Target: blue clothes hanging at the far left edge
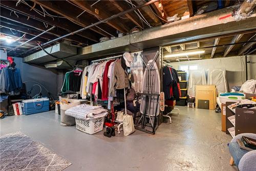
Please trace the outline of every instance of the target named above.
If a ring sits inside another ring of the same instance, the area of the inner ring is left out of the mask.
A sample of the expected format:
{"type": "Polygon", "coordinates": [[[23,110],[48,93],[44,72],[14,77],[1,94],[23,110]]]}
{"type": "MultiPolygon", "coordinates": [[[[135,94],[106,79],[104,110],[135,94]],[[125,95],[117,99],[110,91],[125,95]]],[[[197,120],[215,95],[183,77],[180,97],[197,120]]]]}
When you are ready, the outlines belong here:
{"type": "Polygon", "coordinates": [[[3,68],[0,73],[0,93],[18,95],[21,89],[20,70],[14,67],[3,68]]]}

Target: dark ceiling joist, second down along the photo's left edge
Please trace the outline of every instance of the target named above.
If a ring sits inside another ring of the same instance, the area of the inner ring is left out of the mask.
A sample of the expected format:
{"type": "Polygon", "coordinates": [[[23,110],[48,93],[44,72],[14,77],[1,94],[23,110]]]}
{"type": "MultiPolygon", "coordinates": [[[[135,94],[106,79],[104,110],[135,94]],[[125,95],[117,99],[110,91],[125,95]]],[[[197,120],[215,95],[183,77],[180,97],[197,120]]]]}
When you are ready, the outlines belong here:
{"type": "MultiPolygon", "coordinates": [[[[9,19],[13,22],[20,24],[20,25],[32,27],[32,28],[40,30],[40,31],[47,30],[45,25],[43,23],[39,22],[38,20],[35,20],[33,18],[27,19],[27,17],[22,14],[18,14],[19,17],[17,17],[15,14],[10,15],[10,12],[11,12],[10,10],[1,8],[1,17],[9,19]]],[[[49,25],[48,25],[48,27],[49,27],[49,25]]],[[[57,30],[53,29],[53,30],[47,32],[47,34],[52,34],[52,35],[55,35],[58,37],[58,36],[67,34],[67,31],[57,28],[57,30]]],[[[87,40],[78,35],[72,35],[69,38],[65,38],[65,39],[71,40],[71,41],[76,41],[78,43],[81,42],[83,44],[87,44],[87,40]]]]}

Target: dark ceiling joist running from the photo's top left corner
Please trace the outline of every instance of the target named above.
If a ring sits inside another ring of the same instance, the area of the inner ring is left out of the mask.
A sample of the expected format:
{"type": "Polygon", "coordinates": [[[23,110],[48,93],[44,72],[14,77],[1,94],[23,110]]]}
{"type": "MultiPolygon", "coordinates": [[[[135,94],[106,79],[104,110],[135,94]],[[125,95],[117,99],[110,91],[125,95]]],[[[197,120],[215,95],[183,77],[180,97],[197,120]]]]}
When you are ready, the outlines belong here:
{"type": "MultiPolygon", "coordinates": [[[[0,1],[0,4],[2,7],[7,8],[9,10],[16,11],[20,14],[29,16],[33,19],[39,20],[40,22],[44,22],[50,25],[55,25],[56,27],[59,27],[63,30],[66,30],[68,32],[73,32],[77,30],[77,27],[80,27],[78,25],[75,25],[74,23],[70,22],[68,19],[62,19],[62,18],[56,18],[53,20],[50,16],[41,16],[38,13],[36,13],[34,10],[30,10],[30,7],[19,3],[18,6],[16,6],[15,1],[0,1]]],[[[86,31],[86,32],[80,32],[77,33],[77,35],[87,38],[89,40],[92,40],[93,42],[99,42],[99,36],[96,36],[93,31],[86,31]]],[[[89,41],[90,42],[90,41],[89,41]]]]}

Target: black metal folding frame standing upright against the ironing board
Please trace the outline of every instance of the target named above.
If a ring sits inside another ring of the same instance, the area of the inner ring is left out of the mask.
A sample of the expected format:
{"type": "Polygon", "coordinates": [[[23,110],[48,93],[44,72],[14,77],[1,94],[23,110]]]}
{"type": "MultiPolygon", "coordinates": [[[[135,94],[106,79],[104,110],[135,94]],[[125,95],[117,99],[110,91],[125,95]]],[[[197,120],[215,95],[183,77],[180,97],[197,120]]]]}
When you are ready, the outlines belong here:
{"type": "MultiPolygon", "coordinates": [[[[155,54],[155,57],[153,58],[153,61],[151,63],[146,63],[144,61],[142,55],[140,55],[140,56],[141,56],[142,61],[146,67],[146,70],[144,72],[146,72],[147,82],[146,82],[146,91],[143,93],[138,93],[138,96],[140,96],[140,99],[141,100],[142,100],[142,98],[144,99],[145,106],[144,106],[142,115],[136,116],[137,113],[135,113],[135,116],[134,116],[135,129],[146,132],[146,133],[155,134],[156,126],[157,126],[156,123],[157,123],[157,119],[158,119],[157,111],[158,111],[159,107],[156,106],[155,114],[151,114],[150,109],[151,109],[152,99],[154,99],[154,101],[155,101],[155,98],[156,98],[157,99],[156,102],[158,103],[160,94],[156,94],[156,92],[152,92],[151,81],[153,81],[153,80],[151,80],[151,69],[154,65],[154,62],[159,57],[159,51],[157,51],[157,53],[155,54]],[[148,118],[148,121],[150,122],[149,123],[150,126],[148,126],[148,123],[146,123],[147,118],[148,118]],[[151,127],[152,131],[147,130],[146,127],[151,127]]],[[[136,108],[138,108],[138,101],[139,100],[137,100],[136,108]]],[[[159,105],[159,104],[157,104],[157,105],[159,105]]],[[[137,111],[137,109],[136,109],[136,111],[137,111]]]]}

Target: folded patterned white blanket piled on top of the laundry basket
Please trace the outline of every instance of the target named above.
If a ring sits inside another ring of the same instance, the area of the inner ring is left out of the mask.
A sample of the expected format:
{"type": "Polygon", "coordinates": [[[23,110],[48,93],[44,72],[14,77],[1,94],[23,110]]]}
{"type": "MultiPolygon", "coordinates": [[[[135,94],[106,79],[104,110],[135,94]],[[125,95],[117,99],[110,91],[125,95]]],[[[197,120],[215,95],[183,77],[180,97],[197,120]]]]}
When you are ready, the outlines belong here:
{"type": "Polygon", "coordinates": [[[91,105],[84,105],[80,104],[73,108],[68,109],[65,111],[66,115],[72,116],[77,119],[97,119],[103,116],[108,115],[108,110],[102,108],[102,106],[91,106],[91,105]],[[96,107],[96,108],[95,108],[96,107]]]}

